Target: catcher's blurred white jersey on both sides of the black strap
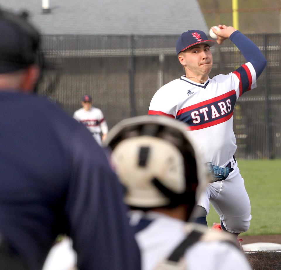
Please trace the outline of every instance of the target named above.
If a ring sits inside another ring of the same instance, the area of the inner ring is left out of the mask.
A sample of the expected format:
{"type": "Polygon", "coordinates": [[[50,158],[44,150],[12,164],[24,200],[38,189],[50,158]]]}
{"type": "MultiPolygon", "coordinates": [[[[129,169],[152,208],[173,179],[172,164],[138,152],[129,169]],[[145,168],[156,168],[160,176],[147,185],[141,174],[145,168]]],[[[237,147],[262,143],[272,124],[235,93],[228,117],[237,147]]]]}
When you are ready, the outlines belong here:
{"type": "MultiPolygon", "coordinates": [[[[141,224],[143,217],[140,211],[132,211],[130,214],[132,225],[139,221],[141,224]]],[[[186,233],[198,226],[196,224],[194,227],[192,223],[185,223],[153,211],[144,217],[151,220],[151,223],[135,236],[140,247],[143,270],[155,269],[186,238],[186,233]]],[[[185,269],[188,270],[251,269],[246,257],[237,247],[217,240],[198,241],[186,250],[184,260],[185,269]]]]}

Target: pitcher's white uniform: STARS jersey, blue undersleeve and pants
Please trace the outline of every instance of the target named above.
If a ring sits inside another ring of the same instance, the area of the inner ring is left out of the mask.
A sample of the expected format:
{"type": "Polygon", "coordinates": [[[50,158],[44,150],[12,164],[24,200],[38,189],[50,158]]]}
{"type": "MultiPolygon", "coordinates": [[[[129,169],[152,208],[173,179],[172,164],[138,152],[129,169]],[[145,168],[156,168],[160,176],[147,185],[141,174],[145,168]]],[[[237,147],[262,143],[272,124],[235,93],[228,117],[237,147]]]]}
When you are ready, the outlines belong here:
{"type": "Polygon", "coordinates": [[[185,76],[161,87],[151,100],[149,114],[169,116],[187,123],[189,135],[196,142],[205,162],[234,169],[226,180],[210,183],[197,205],[207,214],[210,202],[226,230],[241,233],[249,229],[251,205],[237,161],[233,157],[236,139],[233,110],[236,100],[256,87],[256,79],[266,66],[266,59],[249,38],[233,32],[229,39],[239,48],[246,64],[227,75],[217,75],[203,84],[185,76]]]}

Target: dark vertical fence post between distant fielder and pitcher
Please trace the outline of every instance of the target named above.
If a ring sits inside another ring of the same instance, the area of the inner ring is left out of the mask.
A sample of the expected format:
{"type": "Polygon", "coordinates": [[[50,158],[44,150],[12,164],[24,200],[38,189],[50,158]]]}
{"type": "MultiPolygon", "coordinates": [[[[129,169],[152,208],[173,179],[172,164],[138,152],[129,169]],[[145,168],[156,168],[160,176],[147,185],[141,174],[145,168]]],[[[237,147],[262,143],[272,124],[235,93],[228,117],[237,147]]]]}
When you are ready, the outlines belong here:
{"type": "Polygon", "coordinates": [[[136,104],[135,104],[135,37],[131,35],[131,57],[129,68],[129,80],[130,80],[130,104],[131,111],[130,116],[136,116],[136,104]]]}

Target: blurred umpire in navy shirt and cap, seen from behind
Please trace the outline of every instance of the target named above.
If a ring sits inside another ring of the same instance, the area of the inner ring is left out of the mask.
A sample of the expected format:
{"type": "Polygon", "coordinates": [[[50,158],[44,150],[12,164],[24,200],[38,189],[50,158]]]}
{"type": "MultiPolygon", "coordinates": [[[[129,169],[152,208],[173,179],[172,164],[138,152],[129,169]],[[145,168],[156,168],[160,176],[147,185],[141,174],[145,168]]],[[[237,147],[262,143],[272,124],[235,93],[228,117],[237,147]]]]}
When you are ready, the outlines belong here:
{"type": "Polygon", "coordinates": [[[42,269],[58,234],[82,269],[140,269],[122,189],[82,124],[33,92],[40,35],[0,11],[0,269],[42,269]]]}

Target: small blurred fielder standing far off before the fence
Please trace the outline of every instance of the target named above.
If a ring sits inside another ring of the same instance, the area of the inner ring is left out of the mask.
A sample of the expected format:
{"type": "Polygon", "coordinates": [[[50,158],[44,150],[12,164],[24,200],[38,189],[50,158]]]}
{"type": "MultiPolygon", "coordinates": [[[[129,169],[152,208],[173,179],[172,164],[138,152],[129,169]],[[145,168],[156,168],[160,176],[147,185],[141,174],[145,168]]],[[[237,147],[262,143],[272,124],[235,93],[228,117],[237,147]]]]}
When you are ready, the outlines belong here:
{"type": "Polygon", "coordinates": [[[74,112],[73,117],[83,123],[92,133],[99,145],[105,140],[108,133],[107,123],[102,111],[92,106],[92,97],[84,95],[81,102],[83,108],[74,112]],[[100,136],[102,133],[102,137],[100,136]]]}

